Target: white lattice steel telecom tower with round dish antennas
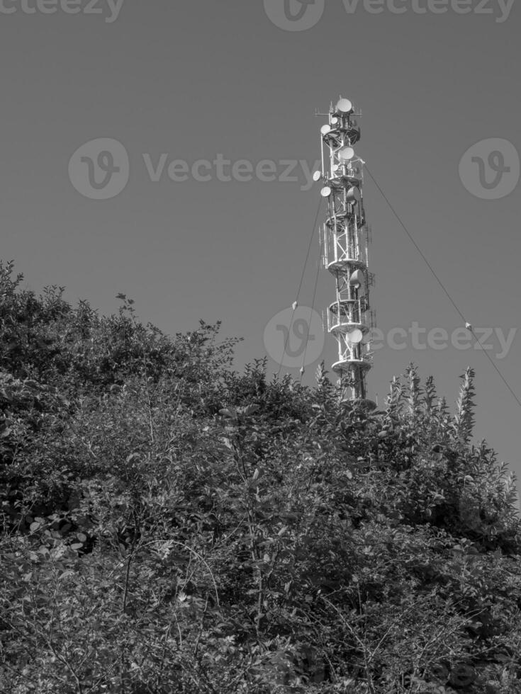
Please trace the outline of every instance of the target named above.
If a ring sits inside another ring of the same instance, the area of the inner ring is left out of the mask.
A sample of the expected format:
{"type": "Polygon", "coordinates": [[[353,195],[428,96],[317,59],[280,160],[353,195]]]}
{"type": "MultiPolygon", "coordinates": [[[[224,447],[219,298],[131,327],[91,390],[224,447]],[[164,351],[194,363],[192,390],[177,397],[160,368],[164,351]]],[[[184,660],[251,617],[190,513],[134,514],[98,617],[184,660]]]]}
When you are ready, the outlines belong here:
{"type": "Polygon", "coordinates": [[[348,99],[340,98],[328,116],[320,135],[322,171],[315,173],[315,179],[323,181],[320,194],[327,200],[327,217],[320,229],[323,264],[336,286],[336,299],[327,308],[327,329],[338,343],[332,370],[339,377],[342,400],[374,408],[366,389],[374,327],[369,305],[369,288],[374,285],[368,267],[371,229],[364,212],[364,161],[353,149],[360,139],[354,120],[359,114],[348,99]]]}

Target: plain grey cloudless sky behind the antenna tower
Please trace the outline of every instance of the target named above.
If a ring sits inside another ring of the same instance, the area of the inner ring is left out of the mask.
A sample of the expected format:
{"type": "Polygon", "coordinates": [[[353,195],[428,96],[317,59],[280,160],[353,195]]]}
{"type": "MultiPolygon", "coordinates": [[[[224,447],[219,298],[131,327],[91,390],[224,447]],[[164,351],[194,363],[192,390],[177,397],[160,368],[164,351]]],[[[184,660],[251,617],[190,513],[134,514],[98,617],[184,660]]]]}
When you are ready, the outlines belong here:
{"type": "MultiPolygon", "coordinates": [[[[310,174],[315,113],[344,96],[357,155],[521,399],[520,28],[509,0],[1,0],[0,256],[103,314],[123,292],[168,334],[221,320],[237,368],[273,356],[293,301],[334,298],[325,270],[314,292],[310,174]]],[[[367,174],[364,201],[369,394],[413,362],[454,406],[471,366],[476,438],[521,473],[520,404],[367,174]]],[[[311,385],[336,345],[309,335],[311,385]]]]}

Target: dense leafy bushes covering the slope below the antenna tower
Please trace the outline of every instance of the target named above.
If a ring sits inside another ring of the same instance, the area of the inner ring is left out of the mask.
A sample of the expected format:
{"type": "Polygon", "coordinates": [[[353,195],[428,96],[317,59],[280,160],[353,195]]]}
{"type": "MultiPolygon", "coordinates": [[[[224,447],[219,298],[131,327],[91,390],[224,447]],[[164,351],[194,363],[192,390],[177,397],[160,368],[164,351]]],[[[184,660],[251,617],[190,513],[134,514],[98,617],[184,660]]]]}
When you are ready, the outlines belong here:
{"type": "MultiPolygon", "coordinates": [[[[0,690],[521,692],[515,479],[413,366],[382,411],[0,266],[0,690]]],[[[452,394],[456,398],[457,392],[452,394]]]]}

